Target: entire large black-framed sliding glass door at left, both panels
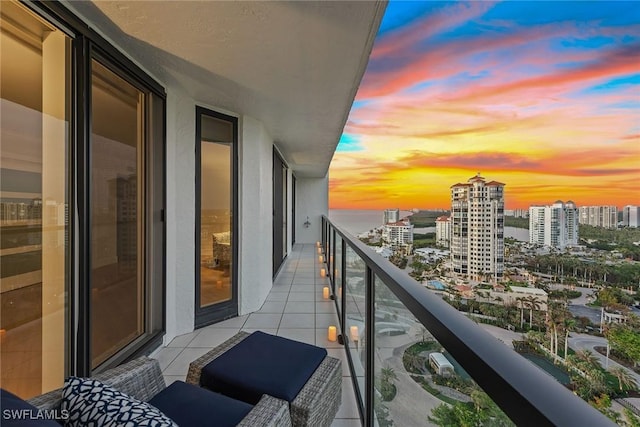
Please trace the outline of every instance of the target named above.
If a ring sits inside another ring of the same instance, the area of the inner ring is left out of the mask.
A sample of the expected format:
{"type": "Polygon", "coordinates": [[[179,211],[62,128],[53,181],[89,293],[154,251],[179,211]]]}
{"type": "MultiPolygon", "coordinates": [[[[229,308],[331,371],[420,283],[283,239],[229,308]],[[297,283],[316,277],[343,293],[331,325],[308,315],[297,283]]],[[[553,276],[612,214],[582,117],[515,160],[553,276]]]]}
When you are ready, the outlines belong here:
{"type": "Polygon", "coordinates": [[[165,92],[59,2],[0,3],[0,387],[30,398],[161,343],[165,92]]]}

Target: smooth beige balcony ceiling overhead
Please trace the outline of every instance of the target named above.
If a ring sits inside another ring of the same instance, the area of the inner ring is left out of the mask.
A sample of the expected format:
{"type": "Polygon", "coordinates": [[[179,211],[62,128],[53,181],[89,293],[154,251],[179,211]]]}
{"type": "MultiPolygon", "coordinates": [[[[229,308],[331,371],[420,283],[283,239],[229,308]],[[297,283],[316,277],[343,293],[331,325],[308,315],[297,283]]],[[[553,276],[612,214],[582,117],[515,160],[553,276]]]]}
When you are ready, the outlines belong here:
{"type": "MultiPolygon", "coordinates": [[[[298,177],[323,177],[385,1],[67,2],[161,81],[260,121],[298,177]]],[[[185,105],[185,108],[188,106],[185,105]]]]}

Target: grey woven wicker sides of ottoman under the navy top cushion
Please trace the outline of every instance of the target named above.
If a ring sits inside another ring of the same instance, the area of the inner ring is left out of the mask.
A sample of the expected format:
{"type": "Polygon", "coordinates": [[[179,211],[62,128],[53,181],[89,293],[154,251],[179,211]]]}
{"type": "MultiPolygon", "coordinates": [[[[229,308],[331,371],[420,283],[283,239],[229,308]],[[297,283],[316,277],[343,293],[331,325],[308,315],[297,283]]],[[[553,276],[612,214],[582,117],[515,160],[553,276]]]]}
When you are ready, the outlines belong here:
{"type": "MultiPolygon", "coordinates": [[[[200,385],[202,369],[212,360],[237,345],[250,334],[238,332],[218,347],[199,357],[189,365],[186,382],[200,385]]],[[[342,366],[339,359],[327,356],[311,378],[290,402],[294,427],[330,426],[342,401],[342,366]]]]}

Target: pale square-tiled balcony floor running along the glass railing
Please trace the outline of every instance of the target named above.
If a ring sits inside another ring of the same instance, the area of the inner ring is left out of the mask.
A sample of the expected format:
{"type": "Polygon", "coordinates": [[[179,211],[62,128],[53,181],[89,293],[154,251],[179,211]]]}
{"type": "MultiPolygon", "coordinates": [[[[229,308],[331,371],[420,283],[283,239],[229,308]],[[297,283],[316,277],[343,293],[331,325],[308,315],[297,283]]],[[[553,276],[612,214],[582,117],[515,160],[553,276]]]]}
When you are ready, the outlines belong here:
{"type": "Polygon", "coordinates": [[[261,330],[297,341],[325,347],[342,360],[342,405],[332,427],[360,426],[356,398],[344,347],[327,340],[329,325],[338,325],[334,302],[324,300],[321,266],[315,245],[295,245],[260,310],[180,335],[154,352],[167,384],[184,380],[189,363],[240,330],[261,330]]]}

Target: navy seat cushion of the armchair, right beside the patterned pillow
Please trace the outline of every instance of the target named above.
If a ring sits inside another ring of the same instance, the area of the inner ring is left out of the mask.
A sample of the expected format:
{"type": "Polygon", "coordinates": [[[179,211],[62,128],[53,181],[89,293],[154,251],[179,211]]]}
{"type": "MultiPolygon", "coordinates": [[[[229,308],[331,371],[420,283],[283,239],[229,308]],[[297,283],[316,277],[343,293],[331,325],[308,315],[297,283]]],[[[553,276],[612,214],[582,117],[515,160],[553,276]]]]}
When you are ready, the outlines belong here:
{"type": "Polygon", "coordinates": [[[176,381],[149,403],[179,426],[235,426],[253,409],[248,403],[176,381]]]}

